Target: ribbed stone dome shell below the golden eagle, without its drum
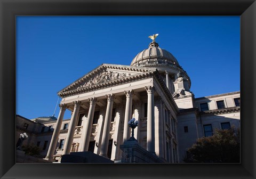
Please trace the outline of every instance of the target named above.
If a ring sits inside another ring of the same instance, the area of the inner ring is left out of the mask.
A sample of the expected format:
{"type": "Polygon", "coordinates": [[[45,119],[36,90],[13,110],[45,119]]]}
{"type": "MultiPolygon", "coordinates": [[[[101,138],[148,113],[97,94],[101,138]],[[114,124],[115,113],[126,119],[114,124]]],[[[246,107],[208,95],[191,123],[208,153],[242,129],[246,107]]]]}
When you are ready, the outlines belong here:
{"type": "Polygon", "coordinates": [[[171,64],[179,66],[177,59],[168,51],[159,47],[156,42],[151,42],[149,47],[138,53],[132,60],[131,66],[153,66],[157,64],[171,64]]]}

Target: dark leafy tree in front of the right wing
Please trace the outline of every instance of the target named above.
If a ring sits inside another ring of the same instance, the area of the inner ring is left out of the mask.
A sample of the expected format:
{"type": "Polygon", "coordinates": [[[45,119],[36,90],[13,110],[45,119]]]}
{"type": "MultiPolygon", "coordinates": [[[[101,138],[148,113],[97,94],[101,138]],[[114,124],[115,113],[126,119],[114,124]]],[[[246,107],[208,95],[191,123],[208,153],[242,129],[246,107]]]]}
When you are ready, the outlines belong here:
{"type": "Polygon", "coordinates": [[[214,135],[202,137],[188,149],[185,162],[194,163],[239,163],[240,132],[234,127],[215,129],[214,135]]]}

